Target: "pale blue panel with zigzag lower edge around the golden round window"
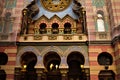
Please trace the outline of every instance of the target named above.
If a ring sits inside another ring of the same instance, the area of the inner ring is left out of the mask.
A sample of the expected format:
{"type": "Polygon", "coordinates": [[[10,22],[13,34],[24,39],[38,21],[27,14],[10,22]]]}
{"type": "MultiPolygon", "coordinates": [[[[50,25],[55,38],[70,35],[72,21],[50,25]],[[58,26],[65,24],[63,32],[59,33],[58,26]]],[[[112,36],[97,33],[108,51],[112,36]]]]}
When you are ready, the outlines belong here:
{"type": "Polygon", "coordinates": [[[37,5],[38,5],[38,7],[40,9],[40,12],[38,13],[38,15],[36,15],[34,17],[34,20],[37,20],[38,18],[40,18],[43,15],[45,15],[48,19],[50,19],[54,15],[57,15],[61,19],[63,17],[65,17],[66,15],[71,16],[73,19],[77,19],[78,18],[78,16],[75,15],[74,12],[73,12],[73,10],[72,10],[73,2],[72,2],[72,4],[67,9],[65,9],[64,11],[60,11],[60,12],[50,12],[50,11],[47,11],[46,9],[44,9],[42,7],[42,4],[40,3],[40,0],[37,1],[37,5]]]}

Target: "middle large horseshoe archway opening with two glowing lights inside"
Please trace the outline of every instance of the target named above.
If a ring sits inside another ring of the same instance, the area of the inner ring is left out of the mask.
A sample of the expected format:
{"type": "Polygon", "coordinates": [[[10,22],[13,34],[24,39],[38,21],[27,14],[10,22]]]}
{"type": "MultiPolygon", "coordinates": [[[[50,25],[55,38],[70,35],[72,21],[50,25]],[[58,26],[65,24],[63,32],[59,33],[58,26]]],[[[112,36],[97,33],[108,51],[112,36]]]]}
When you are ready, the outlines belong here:
{"type": "Polygon", "coordinates": [[[56,52],[50,51],[44,56],[43,62],[47,69],[46,80],[61,80],[61,73],[59,69],[61,62],[60,56],[56,52]]]}

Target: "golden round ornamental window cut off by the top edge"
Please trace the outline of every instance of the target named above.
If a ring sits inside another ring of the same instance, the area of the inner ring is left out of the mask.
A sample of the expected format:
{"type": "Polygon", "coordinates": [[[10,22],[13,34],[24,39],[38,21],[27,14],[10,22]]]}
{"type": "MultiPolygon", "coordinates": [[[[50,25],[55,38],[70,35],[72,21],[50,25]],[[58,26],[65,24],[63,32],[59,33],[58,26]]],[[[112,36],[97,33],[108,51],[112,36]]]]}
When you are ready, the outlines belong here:
{"type": "Polygon", "coordinates": [[[62,11],[66,9],[72,0],[41,0],[43,7],[49,11],[62,11]]]}

